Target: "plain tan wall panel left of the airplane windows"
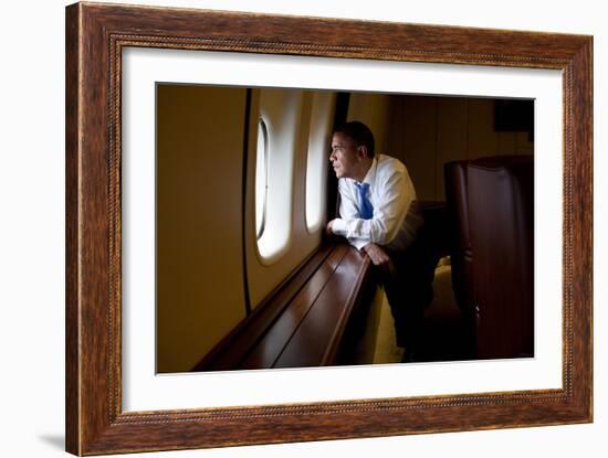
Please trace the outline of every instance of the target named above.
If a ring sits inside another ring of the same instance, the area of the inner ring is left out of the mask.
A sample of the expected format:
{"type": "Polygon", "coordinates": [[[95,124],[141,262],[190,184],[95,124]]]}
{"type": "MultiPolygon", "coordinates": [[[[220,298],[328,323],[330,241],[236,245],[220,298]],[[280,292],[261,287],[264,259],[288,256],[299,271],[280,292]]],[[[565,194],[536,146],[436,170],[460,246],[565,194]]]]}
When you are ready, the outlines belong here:
{"type": "Polygon", "coordinates": [[[158,86],[158,372],[191,370],[245,316],[245,95],[244,88],[158,86]]]}

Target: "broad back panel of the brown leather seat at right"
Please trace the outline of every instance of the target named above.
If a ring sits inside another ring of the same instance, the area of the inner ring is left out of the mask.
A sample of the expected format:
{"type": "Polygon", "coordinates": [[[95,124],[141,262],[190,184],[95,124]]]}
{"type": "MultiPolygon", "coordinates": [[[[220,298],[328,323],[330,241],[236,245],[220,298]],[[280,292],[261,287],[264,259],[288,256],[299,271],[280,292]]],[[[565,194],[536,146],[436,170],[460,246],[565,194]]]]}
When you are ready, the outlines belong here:
{"type": "Polygon", "coordinates": [[[534,161],[468,164],[478,356],[534,353],[534,161]]]}

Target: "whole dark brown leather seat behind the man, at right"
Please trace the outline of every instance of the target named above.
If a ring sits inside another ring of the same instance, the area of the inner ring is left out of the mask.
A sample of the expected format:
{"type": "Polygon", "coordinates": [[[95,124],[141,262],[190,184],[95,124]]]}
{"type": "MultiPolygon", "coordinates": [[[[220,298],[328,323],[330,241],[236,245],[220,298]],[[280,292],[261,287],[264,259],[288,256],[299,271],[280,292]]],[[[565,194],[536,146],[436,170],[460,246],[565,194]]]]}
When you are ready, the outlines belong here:
{"type": "Polygon", "coordinates": [[[534,161],[445,166],[452,281],[476,358],[534,354],[534,161]]]}

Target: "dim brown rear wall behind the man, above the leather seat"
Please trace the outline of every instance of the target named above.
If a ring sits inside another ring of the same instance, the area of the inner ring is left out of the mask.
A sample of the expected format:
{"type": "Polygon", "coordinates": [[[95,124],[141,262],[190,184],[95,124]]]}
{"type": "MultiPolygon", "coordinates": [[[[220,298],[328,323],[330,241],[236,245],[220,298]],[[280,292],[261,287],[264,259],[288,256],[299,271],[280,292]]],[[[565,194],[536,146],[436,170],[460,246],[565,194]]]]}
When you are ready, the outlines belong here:
{"type": "Polygon", "coordinates": [[[445,200],[449,161],[534,153],[527,132],[494,131],[489,98],[392,96],[388,125],[388,153],[406,164],[421,201],[445,200]]]}

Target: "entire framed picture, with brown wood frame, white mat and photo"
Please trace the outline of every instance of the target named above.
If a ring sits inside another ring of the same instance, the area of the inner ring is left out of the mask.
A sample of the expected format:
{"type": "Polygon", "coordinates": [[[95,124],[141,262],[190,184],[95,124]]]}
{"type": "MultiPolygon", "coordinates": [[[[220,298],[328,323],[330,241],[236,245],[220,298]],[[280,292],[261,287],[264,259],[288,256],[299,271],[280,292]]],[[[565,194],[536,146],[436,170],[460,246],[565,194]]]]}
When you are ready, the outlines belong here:
{"type": "Polygon", "coordinates": [[[591,422],[591,75],[583,35],[67,7],[67,451],[591,422]],[[407,215],[340,231],[387,161],[407,215]]]}

